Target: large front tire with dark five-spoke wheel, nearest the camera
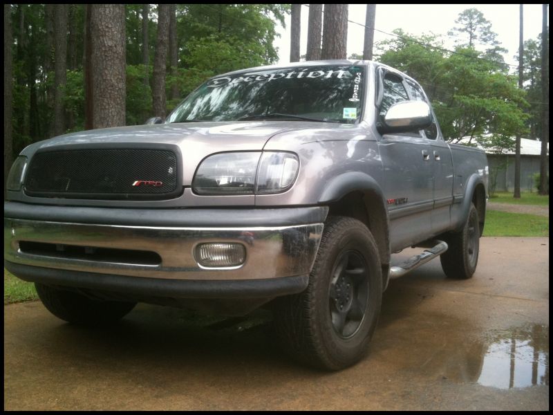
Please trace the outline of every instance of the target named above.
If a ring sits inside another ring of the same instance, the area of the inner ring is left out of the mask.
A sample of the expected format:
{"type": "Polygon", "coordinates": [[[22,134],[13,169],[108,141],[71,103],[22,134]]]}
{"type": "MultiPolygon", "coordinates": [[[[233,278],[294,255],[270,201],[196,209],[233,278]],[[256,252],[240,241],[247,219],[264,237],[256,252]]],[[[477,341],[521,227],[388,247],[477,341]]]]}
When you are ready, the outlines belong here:
{"type": "Polygon", "coordinates": [[[275,323],[285,351],[312,367],[338,370],[366,353],[382,304],[375,239],[356,219],[325,224],[308,288],[277,301],[275,323]]]}

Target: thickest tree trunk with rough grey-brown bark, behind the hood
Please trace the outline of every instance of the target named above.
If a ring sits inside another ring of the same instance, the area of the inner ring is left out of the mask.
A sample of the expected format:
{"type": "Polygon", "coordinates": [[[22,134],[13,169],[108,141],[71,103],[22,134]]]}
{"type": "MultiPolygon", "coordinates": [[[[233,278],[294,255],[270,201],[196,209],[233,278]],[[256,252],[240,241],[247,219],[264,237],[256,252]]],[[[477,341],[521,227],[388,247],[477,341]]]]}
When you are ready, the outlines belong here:
{"type": "Polygon", "coordinates": [[[93,128],[125,124],[125,8],[93,4],[92,75],[93,128]]]}

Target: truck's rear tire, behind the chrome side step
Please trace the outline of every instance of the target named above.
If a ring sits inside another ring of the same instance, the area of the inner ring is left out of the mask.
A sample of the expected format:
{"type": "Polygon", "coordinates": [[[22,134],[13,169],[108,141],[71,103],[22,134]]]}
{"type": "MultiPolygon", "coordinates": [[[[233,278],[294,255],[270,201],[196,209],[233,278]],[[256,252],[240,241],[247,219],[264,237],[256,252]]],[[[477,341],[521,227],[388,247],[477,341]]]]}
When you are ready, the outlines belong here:
{"type": "Polygon", "coordinates": [[[469,217],[460,232],[449,232],[444,235],[447,251],[440,256],[445,275],[455,279],[469,279],[478,264],[480,247],[480,225],[478,211],[471,204],[469,217]]]}

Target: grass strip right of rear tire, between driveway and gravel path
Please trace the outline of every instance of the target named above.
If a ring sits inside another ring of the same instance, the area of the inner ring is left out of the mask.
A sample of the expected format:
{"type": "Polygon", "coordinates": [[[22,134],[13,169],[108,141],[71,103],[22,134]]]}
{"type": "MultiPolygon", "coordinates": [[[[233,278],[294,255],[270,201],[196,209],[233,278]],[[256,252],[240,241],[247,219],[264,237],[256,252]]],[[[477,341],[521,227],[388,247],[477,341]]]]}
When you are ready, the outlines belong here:
{"type": "Polygon", "coordinates": [[[486,211],[485,237],[548,237],[549,218],[535,214],[486,211]]]}

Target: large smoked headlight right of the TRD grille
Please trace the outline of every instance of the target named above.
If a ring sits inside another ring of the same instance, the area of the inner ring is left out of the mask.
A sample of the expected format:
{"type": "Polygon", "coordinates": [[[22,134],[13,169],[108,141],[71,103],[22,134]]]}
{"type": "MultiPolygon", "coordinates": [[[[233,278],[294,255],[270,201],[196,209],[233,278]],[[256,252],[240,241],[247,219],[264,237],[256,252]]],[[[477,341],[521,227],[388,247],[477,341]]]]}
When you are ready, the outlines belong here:
{"type": "Polygon", "coordinates": [[[269,194],[288,190],[299,160],[284,151],[221,153],[207,157],[192,181],[197,194],[269,194]]]}

